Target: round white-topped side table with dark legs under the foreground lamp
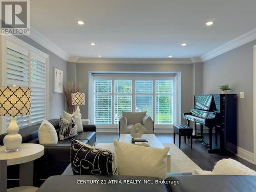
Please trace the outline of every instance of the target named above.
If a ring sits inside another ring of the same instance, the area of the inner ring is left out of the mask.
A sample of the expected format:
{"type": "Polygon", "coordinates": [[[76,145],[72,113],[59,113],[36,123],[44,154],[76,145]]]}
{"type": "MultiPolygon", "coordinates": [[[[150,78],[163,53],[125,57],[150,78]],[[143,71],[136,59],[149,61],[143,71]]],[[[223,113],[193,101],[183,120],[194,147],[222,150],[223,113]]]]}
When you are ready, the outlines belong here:
{"type": "MultiPolygon", "coordinates": [[[[0,147],[0,186],[1,191],[7,191],[7,166],[19,165],[19,186],[33,186],[33,161],[45,153],[45,147],[40,144],[22,143],[20,151],[6,153],[5,147],[0,147]]],[[[15,187],[17,188],[17,187],[15,187]]]]}

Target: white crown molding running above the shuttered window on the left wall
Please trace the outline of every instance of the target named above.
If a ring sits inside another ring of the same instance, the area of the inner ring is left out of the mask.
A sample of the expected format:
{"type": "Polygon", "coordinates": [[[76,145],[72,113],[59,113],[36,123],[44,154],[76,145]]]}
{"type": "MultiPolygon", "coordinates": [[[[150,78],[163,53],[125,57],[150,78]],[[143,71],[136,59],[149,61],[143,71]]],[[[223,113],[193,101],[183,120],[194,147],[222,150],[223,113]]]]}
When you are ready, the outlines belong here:
{"type": "Polygon", "coordinates": [[[70,55],[68,53],[66,53],[65,51],[60,49],[58,46],[53,44],[53,42],[50,39],[46,38],[44,35],[42,35],[39,31],[34,29],[32,26],[30,26],[30,35],[28,37],[30,37],[32,40],[36,41],[38,44],[45,47],[46,49],[50,50],[60,58],[66,61],[68,61],[68,59],[70,58],[70,55]]]}

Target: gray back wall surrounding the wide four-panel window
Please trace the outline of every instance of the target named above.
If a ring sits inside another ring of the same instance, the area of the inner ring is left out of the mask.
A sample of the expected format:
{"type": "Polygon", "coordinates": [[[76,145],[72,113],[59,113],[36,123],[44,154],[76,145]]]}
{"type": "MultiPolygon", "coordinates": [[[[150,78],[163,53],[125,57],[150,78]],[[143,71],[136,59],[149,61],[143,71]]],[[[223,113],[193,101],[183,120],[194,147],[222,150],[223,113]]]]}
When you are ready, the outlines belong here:
{"type": "MultiPolygon", "coordinates": [[[[68,64],[69,65],[69,64],[68,64]]],[[[80,106],[82,116],[88,118],[88,90],[90,71],[181,72],[181,115],[193,108],[193,64],[84,64],[77,63],[77,81],[85,83],[86,105],[80,106]]],[[[183,118],[182,122],[185,122],[183,118]]]]}

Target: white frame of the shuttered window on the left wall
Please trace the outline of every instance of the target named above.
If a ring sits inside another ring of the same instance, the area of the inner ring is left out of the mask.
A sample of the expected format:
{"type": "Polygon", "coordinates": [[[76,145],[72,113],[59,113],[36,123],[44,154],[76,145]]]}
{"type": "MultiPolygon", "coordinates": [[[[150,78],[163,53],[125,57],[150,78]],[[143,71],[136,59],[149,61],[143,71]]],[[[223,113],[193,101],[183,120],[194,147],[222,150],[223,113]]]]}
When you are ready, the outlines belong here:
{"type": "MultiPolygon", "coordinates": [[[[6,54],[6,49],[7,49],[7,41],[12,42],[13,44],[22,47],[26,50],[29,51],[29,63],[31,64],[31,55],[32,52],[36,55],[39,55],[40,57],[43,57],[46,59],[46,119],[49,119],[49,55],[36,49],[35,47],[29,45],[27,42],[13,36],[1,36],[1,86],[12,86],[12,84],[7,83],[7,54],[6,54]]],[[[29,66],[31,68],[31,66],[29,66]]],[[[31,75],[31,74],[30,74],[31,75]]],[[[31,86],[31,83],[30,83],[31,86]]],[[[7,123],[6,120],[7,117],[1,117],[0,118],[0,124],[2,125],[2,133],[6,133],[7,131],[7,123]]],[[[34,123],[36,124],[36,123],[34,123]]],[[[29,117],[29,125],[31,125],[31,117],[29,117]]],[[[21,127],[22,128],[22,127],[21,127]]]]}

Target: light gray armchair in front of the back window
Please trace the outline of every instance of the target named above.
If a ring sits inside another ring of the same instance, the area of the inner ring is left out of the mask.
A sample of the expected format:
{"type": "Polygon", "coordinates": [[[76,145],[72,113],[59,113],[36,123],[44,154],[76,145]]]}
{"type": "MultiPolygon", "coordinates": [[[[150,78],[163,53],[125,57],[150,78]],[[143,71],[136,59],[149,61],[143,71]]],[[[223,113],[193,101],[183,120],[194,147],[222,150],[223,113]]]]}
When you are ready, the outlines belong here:
{"type": "Polygon", "coordinates": [[[122,116],[119,118],[118,135],[130,134],[131,128],[134,124],[140,123],[143,126],[144,134],[154,134],[155,126],[154,121],[145,112],[122,112],[122,116]]]}

